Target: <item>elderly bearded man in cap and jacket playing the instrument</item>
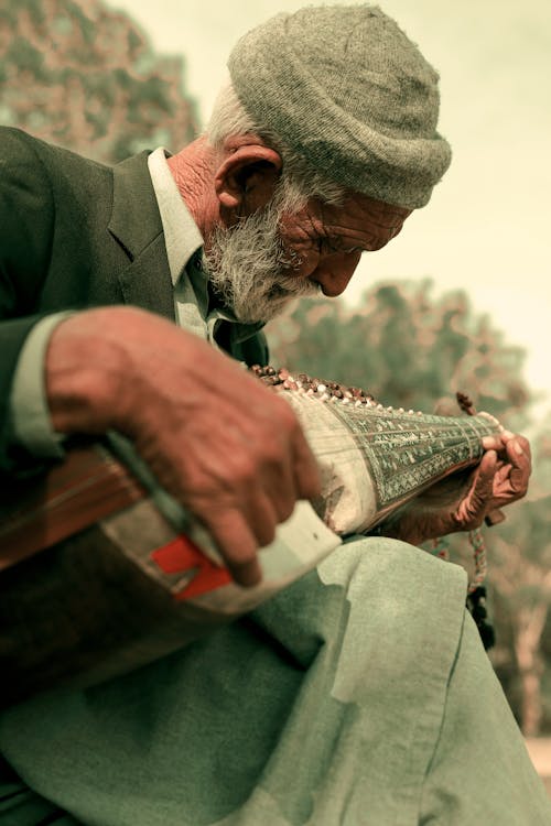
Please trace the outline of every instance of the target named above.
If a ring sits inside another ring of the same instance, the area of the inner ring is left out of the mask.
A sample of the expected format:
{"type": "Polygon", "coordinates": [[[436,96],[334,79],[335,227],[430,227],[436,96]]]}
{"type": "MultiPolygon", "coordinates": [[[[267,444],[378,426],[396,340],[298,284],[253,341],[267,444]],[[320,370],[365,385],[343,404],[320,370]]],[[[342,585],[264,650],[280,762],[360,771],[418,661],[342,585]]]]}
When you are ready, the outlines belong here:
{"type": "MultiPolygon", "coordinates": [[[[226,354],[266,362],[266,320],[342,293],[450,149],[436,74],[377,8],[277,15],[229,70],[207,135],[169,159],[111,170],[3,130],[0,446],[11,478],[67,434],[126,434],[247,586],[320,481],[288,405],[226,354]]],[[[486,446],[468,490],[388,533],[471,528],[521,497],[526,439],[486,446]]],[[[549,823],[464,604],[458,568],[349,542],[171,656],[4,711],[0,823],[549,823]]]]}

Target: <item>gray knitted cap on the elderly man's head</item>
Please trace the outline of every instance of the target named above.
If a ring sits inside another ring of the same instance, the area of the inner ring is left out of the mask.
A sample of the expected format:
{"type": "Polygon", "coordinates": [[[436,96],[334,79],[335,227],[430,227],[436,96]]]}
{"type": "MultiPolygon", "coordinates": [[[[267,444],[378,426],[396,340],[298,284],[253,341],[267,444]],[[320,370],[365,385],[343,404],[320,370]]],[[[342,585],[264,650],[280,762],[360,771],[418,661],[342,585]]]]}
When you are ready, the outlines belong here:
{"type": "Polygon", "coordinates": [[[277,14],[238,41],[228,67],[255,122],[349,189],[422,207],[450,165],[439,76],[378,7],[277,14]]]}

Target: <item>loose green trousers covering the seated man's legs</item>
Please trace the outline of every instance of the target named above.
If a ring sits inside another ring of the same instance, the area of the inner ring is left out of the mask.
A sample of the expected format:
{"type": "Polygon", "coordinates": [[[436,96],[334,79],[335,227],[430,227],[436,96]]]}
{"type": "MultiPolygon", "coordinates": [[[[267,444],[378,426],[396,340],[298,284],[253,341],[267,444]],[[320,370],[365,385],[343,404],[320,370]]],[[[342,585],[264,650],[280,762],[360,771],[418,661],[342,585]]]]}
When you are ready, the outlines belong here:
{"type": "Polygon", "coordinates": [[[549,826],[465,590],[354,541],[171,656],[4,711],[1,826],[549,826]]]}

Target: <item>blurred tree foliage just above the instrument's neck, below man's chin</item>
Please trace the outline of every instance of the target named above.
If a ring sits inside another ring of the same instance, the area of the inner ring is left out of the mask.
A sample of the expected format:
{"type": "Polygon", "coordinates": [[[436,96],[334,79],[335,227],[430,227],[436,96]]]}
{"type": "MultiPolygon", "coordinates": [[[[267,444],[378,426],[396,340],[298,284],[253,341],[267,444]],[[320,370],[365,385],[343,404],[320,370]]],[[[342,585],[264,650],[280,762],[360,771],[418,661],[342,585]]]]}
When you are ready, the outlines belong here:
{"type": "Polygon", "coordinates": [[[461,390],[516,428],[530,398],[522,349],[473,313],[464,292],[432,298],[431,289],[428,280],[379,284],[354,309],[302,302],[268,327],[272,361],[424,412],[461,390]]]}

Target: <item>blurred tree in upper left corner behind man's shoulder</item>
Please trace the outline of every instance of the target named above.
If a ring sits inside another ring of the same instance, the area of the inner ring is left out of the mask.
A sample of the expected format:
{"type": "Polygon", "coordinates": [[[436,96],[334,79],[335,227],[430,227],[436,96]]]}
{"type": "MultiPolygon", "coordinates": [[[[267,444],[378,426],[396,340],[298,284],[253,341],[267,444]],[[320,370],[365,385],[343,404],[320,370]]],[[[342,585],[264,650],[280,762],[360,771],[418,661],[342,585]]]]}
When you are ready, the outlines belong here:
{"type": "Polygon", "coordinates": [[[101,0],[2,0],[0,123],[104,162],[196,131],[183,58],[101,0]]]}

